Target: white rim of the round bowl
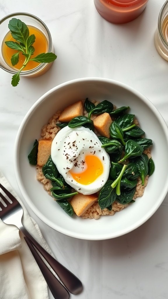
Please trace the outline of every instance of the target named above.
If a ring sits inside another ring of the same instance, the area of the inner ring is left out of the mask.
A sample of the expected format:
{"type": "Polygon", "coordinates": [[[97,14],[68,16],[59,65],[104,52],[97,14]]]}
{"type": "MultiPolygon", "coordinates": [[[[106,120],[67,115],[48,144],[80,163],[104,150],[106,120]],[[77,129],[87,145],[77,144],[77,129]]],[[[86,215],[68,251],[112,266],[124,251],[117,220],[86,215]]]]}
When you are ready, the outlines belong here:
{"type": "Polygon", "coordinates": [[[168,192],[168,179],[167,179],[167,184],[165,184],[164,190],[162,190],[162,196],[159,197],[159,200],[157,201],[157,203],[152,207],[151,210],[149,210],[148,213],[146,213],[143,216],[143,218],[141,218],[135,224],[130,225],[129,227],[120,230],[119,232],[116,232],[116,233],[113,233],[113,234],[105,233],[105,234],[101,234],[99,236],[94,236],[94,235],[88,236],[87,234],[83,234],[83,233],[71,232],[67,229],[64,229],[64,228],[54,224],[52,221],[50,221],[50,219],[46,218],[36,208],[36,206],[33,204],[33,202],[29,199],[29,196],[26,193],[26,190],[25,190],[24,186],[22,185],[21,179],[20,179],[21,175],[20,175],[20,170],[19,170],[19,146],[20,146],[20,143],[21,143],[24,127],[27,124],[34,108],[37,108],[45,100],[46,97],[48,97],[49,95],[54,93],[56,90],[62,89],[64,86],[68,86],[68,85],[71,85],[71,84],[74,84],[74,83],[86,82],[86,81],[89,81],[89,83],[94,82],[94,81],[112,83],[112,84],[120,86],[124,89],[127,89],[130,92],[132,92],[133,94],[135,94],[136,96],[140,97],[141,100],[149,106],[149,108],[152,110],[152,112],[159,119],[159,121],[162,125],[162,128],[164,129],[164,133],[165,133],[167,144],[168,144],[168,127],[167,127],[167,124],[166,124],[164,118],[162,117],[162,115],[158,111],[158,109],[154,106],[154,104],[147,97],[145,97],[142,93],[140,93],[138,90],[134,89],[133,87],[131,87],[131,86],[125,84],[125,83],[122,83],[120,81],[117,81],[117,80],[103,78],[103,77],[82,77],[82,78],[78,78],[78,79],[68,80],[68,81],[63,82],[63,83],[53,87],[52,89],[46,91],[45,94],[43,94],[41,97],[39,97],[39,99],[36,100],[36,102],[30,107],[30,109],[26,113],[25,117],[23,118],[23,120],[22,120],[22,122],[19,126],[19,129],[18,129],[18,132],[17,132],[17,135],[16,135],[16,139],[15,139],[15,144],[14,144],[14,172],[15,172],[15,176],[16,176],[16,182],[18,184],[19,190],[20,190],[25,202],[27,203],[29,208],[33,211],[33,213],[42,222],[44,222],[46,225],[48,225],[49,227],[51,227],[55,231],[57,231],[59,233],[62,233],[62,234],[66,235],[66,236],[69,236],[69,237],[74,237],[74,238],[77,238],[77,239],[84,239],[84,240],[105,240],[105,239],[112,239],[112,238],[116,238],[116,237],[120,237],[122,235],[125,235],[125,234],[135,230],[136,228],[140,227],[142,224],[144,224],[158,210],[161,203],[164,201],[164,199],[167,195],[167,192],[168,192]]]}

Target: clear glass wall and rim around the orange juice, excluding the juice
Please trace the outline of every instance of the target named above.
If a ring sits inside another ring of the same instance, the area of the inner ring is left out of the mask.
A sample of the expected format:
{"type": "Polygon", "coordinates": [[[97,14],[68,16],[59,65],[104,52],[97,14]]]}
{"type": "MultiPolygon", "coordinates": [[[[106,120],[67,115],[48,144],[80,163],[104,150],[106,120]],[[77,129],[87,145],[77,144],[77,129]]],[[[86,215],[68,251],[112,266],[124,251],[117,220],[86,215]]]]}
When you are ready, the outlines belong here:
{"type": "MultiPolygon", "coordinates": [[[[0,20],[0,45],[2,45],[2,42],[4,40],[4,37],[6,34],[9,32],[8,24],[10,19],[16,18],[20,19],[22,22],[24,22],[26,25],[32,26],[40,30],[44,36],[45,36],[45,41],[47,43],[47,51],[46,52],[54,52],[54,46],[52,43],[51,39],[51,34],[50,31],[48,30],[47,26],[45,25],[42,20],[37,18],[34,15],[31,15],[29,13],[12,13],[8,16],[5,16],[3,19],[0,20]]],[[[21,71],[20,76],[25,76],[25,77],[38,77],[44,74],[46,71],[51,68],[53,62],[50,63],[40,63],[38,66],[35,68],[32,68],[27,71],[21,71]]],[[[0,50],[0,67],[4,70],[7,71],[11,74],[16,74],[18,70],[15,67],[12,67],[7,64],[7,62],[4,60],[4,57],[2,55],[2,46],[0,50]]]]}

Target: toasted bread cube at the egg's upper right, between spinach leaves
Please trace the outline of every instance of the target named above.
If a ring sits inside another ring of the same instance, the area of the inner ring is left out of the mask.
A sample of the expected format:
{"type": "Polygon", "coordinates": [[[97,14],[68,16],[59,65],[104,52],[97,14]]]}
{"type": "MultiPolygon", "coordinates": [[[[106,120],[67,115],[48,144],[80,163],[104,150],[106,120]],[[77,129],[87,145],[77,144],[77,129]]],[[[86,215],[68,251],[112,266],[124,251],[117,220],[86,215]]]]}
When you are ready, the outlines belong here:
{"type": "Polygon", "coordinates": [[[94,127],[97,130],[97,132],[107,138],[110,138],[110,132],[109,128],[112,123],[112,119],[109,115],[109,113],[103,113],[101,115],[98,115],[94,121],[94,127]]]}

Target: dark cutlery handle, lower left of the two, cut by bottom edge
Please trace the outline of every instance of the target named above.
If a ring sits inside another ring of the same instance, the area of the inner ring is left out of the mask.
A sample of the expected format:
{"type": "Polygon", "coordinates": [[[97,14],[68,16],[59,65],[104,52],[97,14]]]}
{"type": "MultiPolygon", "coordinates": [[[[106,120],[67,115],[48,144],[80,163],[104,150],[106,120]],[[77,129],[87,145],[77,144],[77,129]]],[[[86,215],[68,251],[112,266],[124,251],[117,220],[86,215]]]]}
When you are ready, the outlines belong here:
{"type": "Polygon", "coordinates": [[[36,249],[31,244],[30,240],[27,237],[24,237],[26,243],[28,244],[33,257],[38,264],[51,293],[53,294],[55,299],[69,299],[69,293],[65,289],[65,287],[59,282],[59,280],[51,273],[48,267],[45,265],[39,254],[37,253],[36,249]]]}

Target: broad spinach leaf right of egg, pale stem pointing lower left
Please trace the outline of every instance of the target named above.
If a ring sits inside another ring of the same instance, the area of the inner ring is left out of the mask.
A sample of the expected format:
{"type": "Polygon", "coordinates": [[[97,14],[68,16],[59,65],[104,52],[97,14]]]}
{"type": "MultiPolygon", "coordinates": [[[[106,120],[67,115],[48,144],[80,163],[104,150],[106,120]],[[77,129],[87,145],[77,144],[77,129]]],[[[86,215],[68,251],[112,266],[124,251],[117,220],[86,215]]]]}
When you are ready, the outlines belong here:
{"type": "Polygon", "coordinates": [[[134,140],[128,140],[125,146],[125,155],[120,161],[118,161],[118,163],[121,163],[130,157],[140,156],[142,153],[143,147],[141,147],[134,140]]]}

